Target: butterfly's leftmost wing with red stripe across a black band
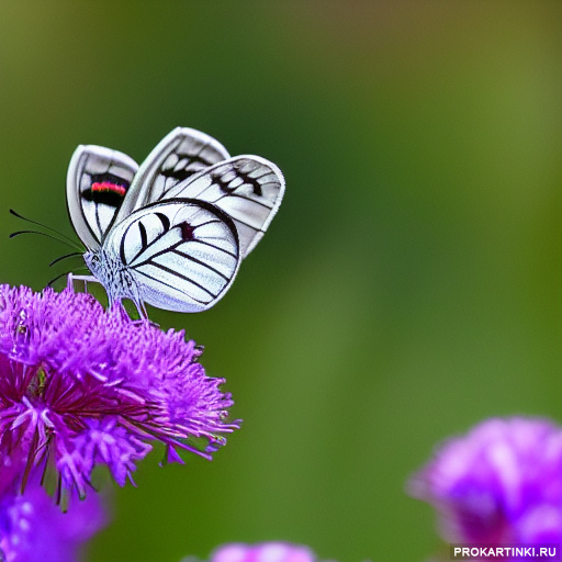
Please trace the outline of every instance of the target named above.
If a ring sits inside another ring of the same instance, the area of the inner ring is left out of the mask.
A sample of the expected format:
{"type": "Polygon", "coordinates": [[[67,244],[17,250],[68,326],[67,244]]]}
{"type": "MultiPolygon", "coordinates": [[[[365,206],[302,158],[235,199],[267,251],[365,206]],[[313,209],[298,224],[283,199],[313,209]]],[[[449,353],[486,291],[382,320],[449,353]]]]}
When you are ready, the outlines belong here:
{"type": "Polygon", "coordinates": [[[138,169],[127,155],[79,146],[67,175],[67,204],[76,233],[89,249],[100,247],[138,169]]]}

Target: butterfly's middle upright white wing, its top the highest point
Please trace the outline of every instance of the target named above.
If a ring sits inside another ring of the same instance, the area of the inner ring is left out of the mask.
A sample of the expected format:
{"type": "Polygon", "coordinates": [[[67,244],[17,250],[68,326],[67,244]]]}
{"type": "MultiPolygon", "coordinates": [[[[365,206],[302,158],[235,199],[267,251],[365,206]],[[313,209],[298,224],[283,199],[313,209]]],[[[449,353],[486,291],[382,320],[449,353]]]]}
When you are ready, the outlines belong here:
{"type": "Polygon", "coordinates": [[[188,127],[175,128],[140,165],[117,221],[167,198],[177,183],[228,157],[226,148],[205,133],[188,127]]]}

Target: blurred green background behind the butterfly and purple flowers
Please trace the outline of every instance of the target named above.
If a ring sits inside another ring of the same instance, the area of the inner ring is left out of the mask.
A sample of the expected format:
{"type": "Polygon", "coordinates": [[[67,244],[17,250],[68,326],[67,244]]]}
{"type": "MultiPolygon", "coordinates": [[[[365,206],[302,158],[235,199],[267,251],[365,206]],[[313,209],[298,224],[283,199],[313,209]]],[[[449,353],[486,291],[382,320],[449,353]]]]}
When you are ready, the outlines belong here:
{"type": "MultiPolygon", "coordinates": [[[[151,310],[205,346],[240,431],[142,463],[87,560],[178,562],[284,539],[340,562],[439,549],[405,481],[495,415],[560,420],[560,1],[0,3],[1,282],[74,236],[78,144],[142,160],[200,128],[286,178],[229,294],[151,310]]],[[[60,271],[60,270],[57,270],[60,271]]]]}

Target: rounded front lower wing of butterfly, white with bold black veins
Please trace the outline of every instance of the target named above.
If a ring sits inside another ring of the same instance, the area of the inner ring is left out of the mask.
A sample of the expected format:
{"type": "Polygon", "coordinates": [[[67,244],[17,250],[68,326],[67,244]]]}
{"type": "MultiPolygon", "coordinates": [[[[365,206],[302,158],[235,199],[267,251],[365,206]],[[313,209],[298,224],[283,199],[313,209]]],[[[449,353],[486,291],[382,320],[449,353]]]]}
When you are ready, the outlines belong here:
{"type": "Polygon", "coordinates": [[[135,211],[109,232],[103,250],[119,256],[142,301],[176,312],[213,306],[240,262],[233,221],[213,205],[192,200],[135,211]]]}

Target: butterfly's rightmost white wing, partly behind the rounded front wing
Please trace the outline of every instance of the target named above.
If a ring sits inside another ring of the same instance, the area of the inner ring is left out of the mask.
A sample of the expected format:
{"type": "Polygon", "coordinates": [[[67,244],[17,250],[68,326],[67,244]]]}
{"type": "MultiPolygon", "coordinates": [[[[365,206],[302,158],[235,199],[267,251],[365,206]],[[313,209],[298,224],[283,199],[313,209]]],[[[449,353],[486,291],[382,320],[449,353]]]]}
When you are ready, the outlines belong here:
{"type": "Polygon", "coordinates": [[[245,258],[262,238],[285,189],[281,170],[259,156],[236,156],[171,188],[168,198],[205,201],[232,217],[245,258]]]}

